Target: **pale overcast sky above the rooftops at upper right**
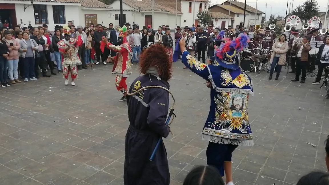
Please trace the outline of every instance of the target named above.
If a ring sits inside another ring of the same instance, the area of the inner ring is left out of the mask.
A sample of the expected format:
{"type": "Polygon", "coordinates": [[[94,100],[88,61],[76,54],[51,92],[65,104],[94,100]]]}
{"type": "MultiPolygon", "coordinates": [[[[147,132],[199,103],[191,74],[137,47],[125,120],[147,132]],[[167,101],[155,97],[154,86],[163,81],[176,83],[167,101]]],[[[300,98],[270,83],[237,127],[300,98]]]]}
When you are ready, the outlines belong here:
{"type": "MultiPolygon", "coordinates": [[[[238,0],[240,2],[244,3],[244,0],[238,0]]],[[[212,4],[221,4],[225,2],[225,0],[211,0],[212,4]]],[[[247,5],[256,8],[256,2],[257,0],[247,0],[247,5]]],[[[288,4],[288,13],[289,13],[289,6],[291,3],[291,10],[293,8],[296,8],[299,5],[302,5],[304,0],[289,0],[288,4]],[[293,2],[293,3],[292,3],[293,2]],[[293,7],[292,7],[293,6],[293,7]]],[[[318,0],[318,5],[319,11],[320,12],[325,12],[326,8],[324,7],[325,4],[327,4],[328,0],[318,0]]],[[[286,15],[286,10],[287,10],[287,0],[272,0],[272,1],[263,1],[263,0],[258,0],[257,2],[257,10],[260,10],[265,13],[266,10],[266,19],[268,20],[268,17],[271,14],[276,15],[286,15]],[[266,3],[267,3],[267,9],[266,9],[266,3]]],[[[265,14],[263,14],[265,16],[265,14]]]]}

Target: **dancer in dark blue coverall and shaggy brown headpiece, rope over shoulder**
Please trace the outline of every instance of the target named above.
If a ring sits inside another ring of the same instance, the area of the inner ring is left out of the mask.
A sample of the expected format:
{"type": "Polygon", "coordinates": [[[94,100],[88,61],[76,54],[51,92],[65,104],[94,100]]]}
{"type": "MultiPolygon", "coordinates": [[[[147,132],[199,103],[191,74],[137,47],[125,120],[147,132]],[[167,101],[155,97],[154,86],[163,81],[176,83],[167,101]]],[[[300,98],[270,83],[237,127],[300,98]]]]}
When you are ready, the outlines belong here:
{"type": "MultiPolygon", "coordinates": [[[[142,76],[134,80],[129,93],[146,86],[161,86],[169,90],[171,62],[167,49],[152,45],[139,58],[142,76]]],[[[149,158],[160,137],[169,135],[165,124],[169,93],[161,88],[148,88],[127,96],[129,128],[126,134],[124,164],[125,185],[169,185],[167,152],[161,141],[153,161],[149,158]]]]}

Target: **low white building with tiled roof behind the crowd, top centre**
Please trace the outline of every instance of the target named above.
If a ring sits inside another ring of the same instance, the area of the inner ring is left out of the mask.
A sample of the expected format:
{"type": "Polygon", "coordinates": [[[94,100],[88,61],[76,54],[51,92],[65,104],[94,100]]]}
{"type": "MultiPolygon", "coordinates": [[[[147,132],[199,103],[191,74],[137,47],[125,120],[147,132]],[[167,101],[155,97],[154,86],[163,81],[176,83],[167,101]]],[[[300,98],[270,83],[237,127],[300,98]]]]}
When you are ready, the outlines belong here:
{"type": "MultiPolygon", "coordinates": [[[[154,3],[152,17],[152,1],[123,0],[123,22],[138,24],[140,29],[145,25],[151,25],[153,29],[162,25],[168,25],[172,29],[176,24],[176,10],[171,7],[154,3]]],[[[108,18],[114,25],[119,24],[120,1],[111,4],[113,7],[111,17],[108,18]]],[[[177,11],[177,24],[181,25],[182,13],[177,11]]]]}

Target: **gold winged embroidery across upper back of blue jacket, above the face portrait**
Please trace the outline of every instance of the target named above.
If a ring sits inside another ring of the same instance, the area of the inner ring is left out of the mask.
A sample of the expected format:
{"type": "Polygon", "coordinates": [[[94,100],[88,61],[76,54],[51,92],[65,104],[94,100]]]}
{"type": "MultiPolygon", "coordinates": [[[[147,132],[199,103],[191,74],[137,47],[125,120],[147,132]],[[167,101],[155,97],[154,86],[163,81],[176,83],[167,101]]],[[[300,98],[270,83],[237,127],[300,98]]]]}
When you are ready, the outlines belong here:
{"type": "Polygon", "coordinates": [[[243,72],[232,80],[232,76],[230,75],[229,70],[223,69],[220,72],[220,76],[225,80],[224,82],[222,82],[222,86],[227,86],[229,85],[230,82],[232,82],[234,85],[236,85],[239,88],[250,85],[250,80],[248,76],[246,76],[243,72]]]}

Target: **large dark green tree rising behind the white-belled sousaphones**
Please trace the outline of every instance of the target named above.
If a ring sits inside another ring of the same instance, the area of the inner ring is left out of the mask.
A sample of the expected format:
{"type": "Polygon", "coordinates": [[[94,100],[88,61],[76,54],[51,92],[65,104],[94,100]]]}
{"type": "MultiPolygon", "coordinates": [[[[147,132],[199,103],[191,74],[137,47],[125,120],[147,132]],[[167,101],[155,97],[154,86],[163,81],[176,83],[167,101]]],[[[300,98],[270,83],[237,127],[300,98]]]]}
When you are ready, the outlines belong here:
{"type": "Polygon", "coordinates": [[[296,7],[287,16],[297,15],[301,23],[305,23],[311,17],[317,16],[319,12],[319,6],[317,0],[306,0],[302,5],[296,7]]]}

